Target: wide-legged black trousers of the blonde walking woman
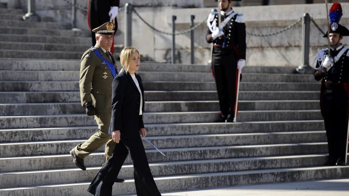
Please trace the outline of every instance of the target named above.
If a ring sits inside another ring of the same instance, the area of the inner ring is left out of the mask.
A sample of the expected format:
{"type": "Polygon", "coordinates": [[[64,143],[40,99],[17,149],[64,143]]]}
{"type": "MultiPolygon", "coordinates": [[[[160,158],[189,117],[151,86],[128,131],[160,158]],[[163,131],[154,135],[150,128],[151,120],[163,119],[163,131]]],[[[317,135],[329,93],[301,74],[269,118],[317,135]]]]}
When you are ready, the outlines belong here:
{"type": "Polygon", "coordinates": [[[137,196],[161,196],[150,171],[141,137],[120,140],[113,155],[98,172],[87,191],[94,196],[111,196],[114,181],[129,151],[134,167],[137,196]]]}

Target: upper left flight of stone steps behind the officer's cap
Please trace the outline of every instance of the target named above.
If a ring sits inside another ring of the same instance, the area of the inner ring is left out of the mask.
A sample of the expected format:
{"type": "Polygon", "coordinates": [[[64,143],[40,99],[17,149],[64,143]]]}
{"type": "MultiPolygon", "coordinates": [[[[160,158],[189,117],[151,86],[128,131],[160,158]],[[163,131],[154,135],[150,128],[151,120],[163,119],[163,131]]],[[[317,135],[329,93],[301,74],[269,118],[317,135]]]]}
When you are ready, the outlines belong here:
{"type": "Polygon", "coordinates": [[[71,24],[41,21],[23,21],[22,9],[0,7],[0,57],[35,59],[80,59],[81,53],[91,47],[89,32],[72,31],[71,24]]]}

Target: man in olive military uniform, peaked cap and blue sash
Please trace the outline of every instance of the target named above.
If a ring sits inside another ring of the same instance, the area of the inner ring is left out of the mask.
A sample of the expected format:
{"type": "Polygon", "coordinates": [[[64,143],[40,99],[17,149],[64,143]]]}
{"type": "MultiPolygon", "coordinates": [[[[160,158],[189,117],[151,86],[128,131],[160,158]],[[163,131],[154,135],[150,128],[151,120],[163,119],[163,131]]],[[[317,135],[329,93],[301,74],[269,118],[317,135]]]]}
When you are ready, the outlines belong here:
{"type": "Polygon", "coordinates": [[[109,52],[113,42],[115,25],[106,22],[93,29],[96,45],[88,49],[81,58],[80,97],[88,116],[94,116],[98,131],[87,141],[75,146],[70,154],[76,166],[86,170],[84,158],[105,145],[106,162],[112,155],[115,142],[108,134],[111,119],[112,83],[118,73],[116,61],[109,52]]]}

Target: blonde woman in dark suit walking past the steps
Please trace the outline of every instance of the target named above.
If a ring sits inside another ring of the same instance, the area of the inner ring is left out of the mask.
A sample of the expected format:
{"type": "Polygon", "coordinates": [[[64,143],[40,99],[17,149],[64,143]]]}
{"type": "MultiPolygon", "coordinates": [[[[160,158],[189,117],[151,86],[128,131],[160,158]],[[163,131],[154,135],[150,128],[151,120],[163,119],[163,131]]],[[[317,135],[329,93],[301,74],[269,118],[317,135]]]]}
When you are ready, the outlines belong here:
{"type": "Polygon", "coordinates": [[[142,79],[135,73],[140,65],[138,50],[133,47],[124,48],[120,62],[123,69],[113,81],[112,119],[109,128],[116,146],[113,155],[90,184],[88,192],[95,196],[111,196],[115,178],[130,151],[137,196],[161,196],[150,171],[141,138],[146,137],[147,131],[143,123],[142,79]]]}

